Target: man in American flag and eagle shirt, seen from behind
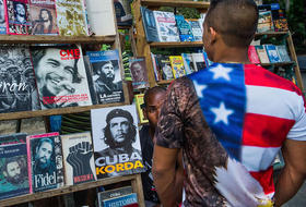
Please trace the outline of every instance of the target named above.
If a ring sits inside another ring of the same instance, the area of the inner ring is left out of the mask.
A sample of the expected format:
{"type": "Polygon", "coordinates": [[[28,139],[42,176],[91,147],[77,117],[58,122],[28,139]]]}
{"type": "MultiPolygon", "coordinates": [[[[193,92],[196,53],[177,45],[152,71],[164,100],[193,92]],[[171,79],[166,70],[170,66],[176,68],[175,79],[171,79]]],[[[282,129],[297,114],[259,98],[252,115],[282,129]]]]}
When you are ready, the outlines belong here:
{"type": "Polygon", "coordinates": [[[215,63],[173,82],[155,132],[153,176],[163,206],[176,205],[180,148],[184,206],[281,206],[303,184],[305,100],[293,83],[249,62],[257,22],[252,0],[211,1],[203,44],[215,63]],[[281,148],[285,167],[274,188],[281,148]]]}

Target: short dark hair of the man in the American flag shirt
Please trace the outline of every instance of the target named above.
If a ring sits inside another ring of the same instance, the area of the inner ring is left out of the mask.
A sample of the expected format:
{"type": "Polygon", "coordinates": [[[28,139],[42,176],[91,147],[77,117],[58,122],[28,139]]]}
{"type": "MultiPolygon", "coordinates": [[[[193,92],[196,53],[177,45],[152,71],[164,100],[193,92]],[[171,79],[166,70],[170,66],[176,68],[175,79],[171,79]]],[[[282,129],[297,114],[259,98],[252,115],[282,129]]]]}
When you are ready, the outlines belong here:
{"type": "Polygon", "coordinates": [[[232,47],[247,47],[256,33],[258,8],[254,0],[211,0],[204,25],[232,47]]]}

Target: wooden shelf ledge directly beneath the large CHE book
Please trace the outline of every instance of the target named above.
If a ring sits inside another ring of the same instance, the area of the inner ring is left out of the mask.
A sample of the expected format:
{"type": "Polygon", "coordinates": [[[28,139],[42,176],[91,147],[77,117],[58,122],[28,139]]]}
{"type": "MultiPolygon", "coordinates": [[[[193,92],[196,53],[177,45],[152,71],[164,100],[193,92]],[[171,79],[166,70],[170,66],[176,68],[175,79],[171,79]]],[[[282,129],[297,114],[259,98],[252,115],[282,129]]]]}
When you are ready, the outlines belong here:
{"type": "Polygon", "coordinates": [[[117,107],[122,105],[125,104],[116,102],[116,104],[107,104],[107,105],[92,105],[85,107],[64,107],[64,108],[45,109],[45,110],[37,110],[37,111],[8,112],[8,113],[0,113],[0,120],[15,120],[15,119],[26,119],[26,118],[44,117],[44,115],[78,113],[78,112],[89,111],[91,109],[117,107]]]}

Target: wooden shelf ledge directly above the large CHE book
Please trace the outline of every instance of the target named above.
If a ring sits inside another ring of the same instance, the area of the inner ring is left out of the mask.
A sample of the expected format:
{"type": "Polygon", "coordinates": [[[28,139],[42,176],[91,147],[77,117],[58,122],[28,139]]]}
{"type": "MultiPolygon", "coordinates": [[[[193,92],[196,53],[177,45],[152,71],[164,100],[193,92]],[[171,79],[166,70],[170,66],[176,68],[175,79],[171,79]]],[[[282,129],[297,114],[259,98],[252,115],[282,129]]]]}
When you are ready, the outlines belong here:
{"type": "Polygon", "coordinates": [[[0,35],[0,44],[113,44],[116,36],[43,36],[43,35],[0,35]]]}

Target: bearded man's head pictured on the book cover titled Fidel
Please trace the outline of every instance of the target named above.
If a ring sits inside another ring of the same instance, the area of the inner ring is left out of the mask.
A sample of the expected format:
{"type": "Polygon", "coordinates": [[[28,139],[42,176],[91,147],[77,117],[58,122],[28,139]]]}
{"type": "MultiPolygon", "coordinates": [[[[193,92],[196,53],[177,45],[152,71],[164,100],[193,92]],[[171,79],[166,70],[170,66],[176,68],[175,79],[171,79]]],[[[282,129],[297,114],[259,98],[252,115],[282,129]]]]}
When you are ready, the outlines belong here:
{"type": "Polygon", "coordinates": [[[42,169],[50,166],[51,155],[54,154],[54,142],[51,138],[40,138],[35,148],[35,161],[42,169]]]}

